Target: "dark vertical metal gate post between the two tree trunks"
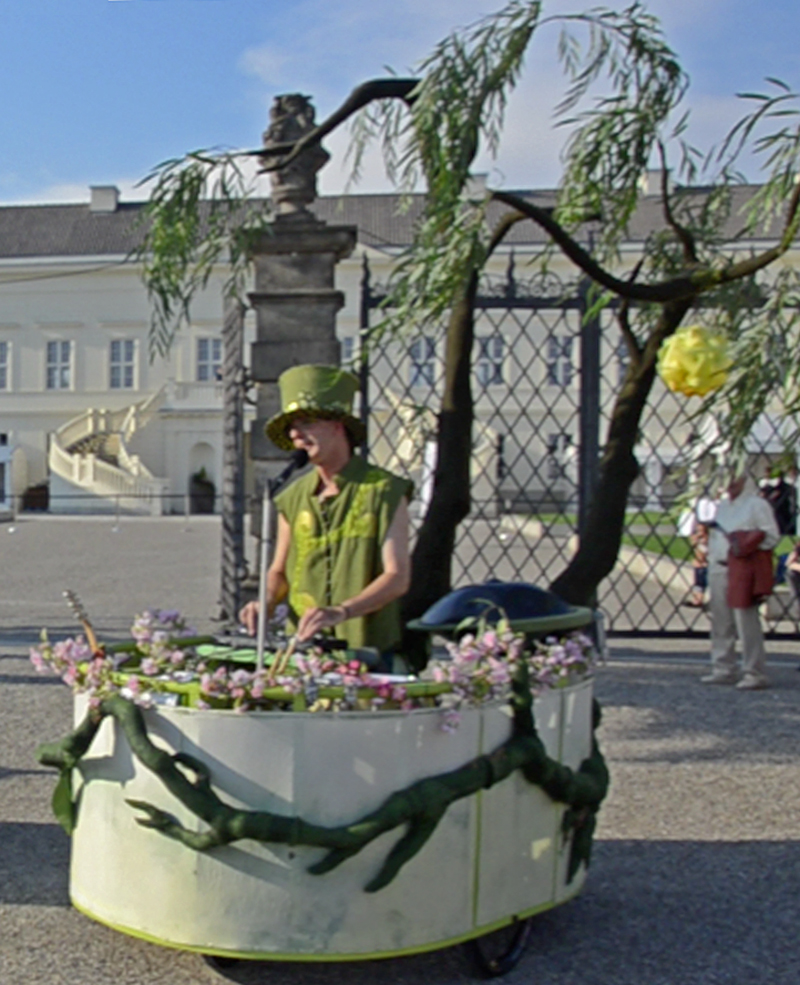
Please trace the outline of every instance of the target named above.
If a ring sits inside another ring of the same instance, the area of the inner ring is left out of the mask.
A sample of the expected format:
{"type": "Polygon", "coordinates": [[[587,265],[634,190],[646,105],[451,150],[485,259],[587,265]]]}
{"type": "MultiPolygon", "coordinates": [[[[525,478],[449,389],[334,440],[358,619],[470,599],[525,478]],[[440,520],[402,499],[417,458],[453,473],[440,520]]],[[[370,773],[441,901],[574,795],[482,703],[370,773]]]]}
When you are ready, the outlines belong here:
{"type": "Polygon", "coordinates": [[[582,281],[580,298],[581,397],[578,447],[578,535],[586,529],[589,507],[600,470],[600,317],[586,317],[589,309],[588,281],[582,281]]]}

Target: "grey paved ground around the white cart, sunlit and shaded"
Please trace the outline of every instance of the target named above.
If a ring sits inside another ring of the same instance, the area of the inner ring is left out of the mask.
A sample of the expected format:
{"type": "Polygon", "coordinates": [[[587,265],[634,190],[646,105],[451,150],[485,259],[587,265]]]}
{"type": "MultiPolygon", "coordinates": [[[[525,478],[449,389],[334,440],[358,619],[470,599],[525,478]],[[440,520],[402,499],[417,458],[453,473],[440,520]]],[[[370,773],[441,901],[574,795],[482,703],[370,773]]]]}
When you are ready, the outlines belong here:
{"type": "MultiPolygon", "coordinates": [[[[91,922],[68,900],[69,842],[36,745],[70,724],[70,695],[26,659],[39,626],[72,631],[72,587],[106,635],[147,604],[215,612],[216,521],[37,519],[0,527],[0,985],[204,985],[191,954],[91,922]]],[[[697,683],[697,644],[614,645],[598,674],[613,784],[582,895],[538,918],[513,985],[800,982],[800,647],[773,646],[774,687],[697,683]]],[[[348,965],[242,963],[242,985],[467,981],[464,952],[348,965]]]]}

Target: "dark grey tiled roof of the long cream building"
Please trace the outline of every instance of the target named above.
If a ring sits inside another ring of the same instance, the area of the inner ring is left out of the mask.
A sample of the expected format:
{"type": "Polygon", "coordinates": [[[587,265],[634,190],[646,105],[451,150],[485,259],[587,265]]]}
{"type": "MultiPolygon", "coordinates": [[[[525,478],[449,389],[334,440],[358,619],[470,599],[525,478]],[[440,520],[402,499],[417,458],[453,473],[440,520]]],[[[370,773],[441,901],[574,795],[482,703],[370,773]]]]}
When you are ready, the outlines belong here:
{"type": "MultiPolygon", "coordinates": [[[[734,189],[731,236],[740,227],[737,215],[754,190],[752,185],[734,189]]],[[[704,191],[698,189],[698,196],[704,191]]],[[[552,205],[555,199],[552,190],[518,194],[543,206],[552,205]]],[[[356,226],[359,242],[364,246],[397,249],[411,242],[423,201],[422,195],[414,195],[407,202],[397,194],[332,195],[317,199],[313,211],[332,225],[356,226]]],[[[123,202],[114,211],[93,211],[88,203],[2,206],[0,259],[125,256],[140,237],[138,219],[143,207],[143,202],[123,202]]],[[[498,204],[493,209],[499,216],[503,206],[498,204]]],[[[660,226],[663,226],[663,215],[658,197],[644,196],[630,224],[630,242],[642,242],[660,226]]],[[[764,238],[769,238],[766,232],[764,238]]],[[[522,222],[510,231],[504,242],[509,246],[536,246],[546,239],[546,234],[533,222],[522,222]]]]}

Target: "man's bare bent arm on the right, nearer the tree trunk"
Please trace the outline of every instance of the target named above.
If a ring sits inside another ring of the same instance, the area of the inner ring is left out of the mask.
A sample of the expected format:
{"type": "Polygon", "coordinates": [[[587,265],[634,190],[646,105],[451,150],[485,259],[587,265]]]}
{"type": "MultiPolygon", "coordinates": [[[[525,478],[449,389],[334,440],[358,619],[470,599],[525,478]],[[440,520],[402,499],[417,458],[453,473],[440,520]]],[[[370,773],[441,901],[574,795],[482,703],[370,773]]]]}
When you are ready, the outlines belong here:
{"type": "Polygon", "coordinates": [[[359,616],[377,612],[389,602],[405,595],[411,584],[411,558],[408,553],[408,501],[405,497],[395,511],[381,547],[383,571],[358,595],[339,605],[309,609],[297,627],[300,640],[307,640],[321,629],[338,626],[359,616]]]}

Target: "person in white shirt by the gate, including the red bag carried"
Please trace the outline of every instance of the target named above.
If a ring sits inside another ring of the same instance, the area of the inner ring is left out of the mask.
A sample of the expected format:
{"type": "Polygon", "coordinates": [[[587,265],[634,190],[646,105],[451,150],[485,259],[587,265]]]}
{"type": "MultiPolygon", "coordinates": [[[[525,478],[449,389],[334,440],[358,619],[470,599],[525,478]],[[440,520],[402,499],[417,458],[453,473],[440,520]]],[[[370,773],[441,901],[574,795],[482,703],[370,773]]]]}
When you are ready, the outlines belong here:
{"type": "Polygon", "coordinates": [[[753,691],[768,685],[758,604],[765,587],[761,584],[764,565],[771,585],[772,548],[779,534],[772,507],[752,480],[735,475],[727,492],[709,536],[711,673],[701,680],[753,691]],[[742,648],[741,679],[736,669],[737,636],[742,648]]]}

